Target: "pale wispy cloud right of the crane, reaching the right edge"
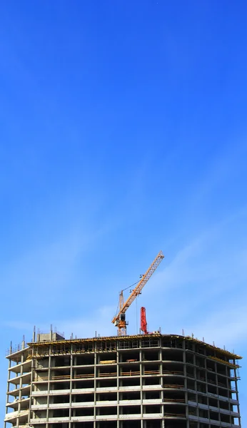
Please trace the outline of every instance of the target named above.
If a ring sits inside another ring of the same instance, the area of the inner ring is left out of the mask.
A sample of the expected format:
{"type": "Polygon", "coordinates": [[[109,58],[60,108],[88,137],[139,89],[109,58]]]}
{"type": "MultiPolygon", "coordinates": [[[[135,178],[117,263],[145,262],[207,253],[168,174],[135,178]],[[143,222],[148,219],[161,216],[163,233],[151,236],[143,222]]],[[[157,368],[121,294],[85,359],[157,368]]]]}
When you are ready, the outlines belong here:
{"type": "Polygon", "coordinates": [[[154,330],[183,329],[221,346],[247,336],[246,242],[235,242],[245,224],[243,208],[163,261],[141,296],[154,330]]]}

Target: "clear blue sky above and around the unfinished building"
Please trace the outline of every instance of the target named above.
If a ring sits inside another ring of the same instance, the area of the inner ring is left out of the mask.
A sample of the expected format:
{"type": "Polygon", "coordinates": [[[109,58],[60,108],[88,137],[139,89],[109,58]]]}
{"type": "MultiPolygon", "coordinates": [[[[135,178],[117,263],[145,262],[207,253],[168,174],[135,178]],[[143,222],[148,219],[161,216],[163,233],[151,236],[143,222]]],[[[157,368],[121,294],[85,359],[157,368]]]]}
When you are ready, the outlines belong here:
{"type": "MultiPolygon", "coordinates": [[[[34,325],[150,330],[247,356],[245,1],[0,6],[1,412],[5,350],[34,325]]],[[[247,422],[241,362],[242,426],[247,422]]]]}

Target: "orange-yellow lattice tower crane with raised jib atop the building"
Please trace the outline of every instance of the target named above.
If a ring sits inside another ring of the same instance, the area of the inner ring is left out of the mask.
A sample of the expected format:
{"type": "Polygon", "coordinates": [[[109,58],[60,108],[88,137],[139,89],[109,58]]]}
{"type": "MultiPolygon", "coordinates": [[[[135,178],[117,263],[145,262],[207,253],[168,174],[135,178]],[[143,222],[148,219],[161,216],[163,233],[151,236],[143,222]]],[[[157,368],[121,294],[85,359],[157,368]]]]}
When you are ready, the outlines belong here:
{"type": "Polygon", "coordinates": [[[136,287],[132,290],[131,295],[128,296],[128,299],[126,302],[124,302],[124,291],[121,290],[119,295],[119,313],[116,315],[111,322],[118,327],[118,335],[119,336],[126,336],[126,310],[128,307],[130,307],[133,300],[136,299],[138,295],[141,294],[141,290],[143,289],[144,285],[148,282],[148,280],[153,275],[153,272],[157,269],[158,265],[163,260],[164,255],[162,251],[156,255],[156,258],[153,260],[153,263],[148,267],[148,270],[144,275],[141,275],[141,280],[139,280],[136,287]]]}

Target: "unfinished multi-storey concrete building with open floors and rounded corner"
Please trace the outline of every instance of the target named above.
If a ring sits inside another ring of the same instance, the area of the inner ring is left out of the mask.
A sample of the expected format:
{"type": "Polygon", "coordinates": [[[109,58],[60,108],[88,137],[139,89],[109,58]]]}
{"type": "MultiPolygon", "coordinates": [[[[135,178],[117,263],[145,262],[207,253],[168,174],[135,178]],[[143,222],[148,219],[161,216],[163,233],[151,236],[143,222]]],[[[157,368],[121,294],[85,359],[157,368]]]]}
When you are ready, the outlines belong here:
{"type": "Polygon", "coordinates": [[[241,357],[193,337],[51,332],[7,358],[6,427],[241,427],[241,357]]]}

